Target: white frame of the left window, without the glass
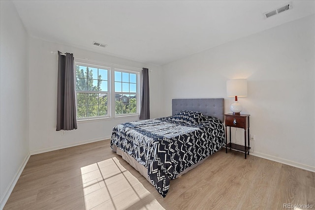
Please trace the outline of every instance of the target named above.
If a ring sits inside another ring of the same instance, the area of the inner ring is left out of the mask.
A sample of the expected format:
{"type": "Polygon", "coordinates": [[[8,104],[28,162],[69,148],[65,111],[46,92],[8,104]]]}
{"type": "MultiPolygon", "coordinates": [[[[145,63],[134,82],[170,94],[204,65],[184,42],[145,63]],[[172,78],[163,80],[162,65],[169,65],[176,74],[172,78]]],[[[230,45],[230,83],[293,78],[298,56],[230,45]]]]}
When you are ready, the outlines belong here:
{"type": "MultiPolygon", "coordinates": [[[[75,61],[74,66],[74,73],[76,75],[76,66],[87,66],[87,67],[93,67],[93,68],[100,68],[100,69],[106,69],[107,70],[107,91],[90,91],[90,90],[76,90],[75,88],[75,97],[77,97],[77,93],[106,93],[107,94],[107,115],[103,116],[95,116],[95,117],[84,117],[84,118],[78,118],[78,112],[77,112],[77,120],[93,120],[93,119],[106,119],[111,117],[111,93],[110,93],[110,75],[111,75],[111,68],[105,65],[96,65],[91,62],[80,62],[75,61]]],[[[76,78],[75,78],[76,81],[76,78]]],[[[75,83],[76,84],[76,83],[75,83]]],[[[77,98],[75,98],[75,106],[76,109],[78,108],[77,104],[77,98]]],[[[78,111],[78,110],[77,110],[78,111]]]]}

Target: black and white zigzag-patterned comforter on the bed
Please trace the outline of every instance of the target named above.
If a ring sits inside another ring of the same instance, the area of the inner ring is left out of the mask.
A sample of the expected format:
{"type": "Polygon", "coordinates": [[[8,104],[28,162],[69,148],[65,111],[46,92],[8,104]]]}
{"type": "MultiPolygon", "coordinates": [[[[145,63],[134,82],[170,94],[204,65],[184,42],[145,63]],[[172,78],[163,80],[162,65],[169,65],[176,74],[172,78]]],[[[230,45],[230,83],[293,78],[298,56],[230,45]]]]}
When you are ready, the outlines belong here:
{"type": "Polygon", "coordinates": [[[221,121],[203,116],[187,123],[174,116],[119,124],[113,128],[116,145],[148,169],[158,193],[165,197],[170,179],[224,146],[221,121]]]}

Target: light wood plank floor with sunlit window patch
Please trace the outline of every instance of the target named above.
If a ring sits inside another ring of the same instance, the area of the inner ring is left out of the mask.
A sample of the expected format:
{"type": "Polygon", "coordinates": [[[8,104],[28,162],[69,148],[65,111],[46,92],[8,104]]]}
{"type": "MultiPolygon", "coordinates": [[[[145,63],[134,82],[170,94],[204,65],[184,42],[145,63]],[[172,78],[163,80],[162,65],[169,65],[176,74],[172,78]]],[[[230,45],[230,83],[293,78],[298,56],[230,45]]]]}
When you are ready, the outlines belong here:
{"type": "Polygon", "coordinates": [[[315,173],[221,150],[182,177],[162,198],[104,140],[32,155],[4,209],[284,209],[313,205],[315,173]]]}

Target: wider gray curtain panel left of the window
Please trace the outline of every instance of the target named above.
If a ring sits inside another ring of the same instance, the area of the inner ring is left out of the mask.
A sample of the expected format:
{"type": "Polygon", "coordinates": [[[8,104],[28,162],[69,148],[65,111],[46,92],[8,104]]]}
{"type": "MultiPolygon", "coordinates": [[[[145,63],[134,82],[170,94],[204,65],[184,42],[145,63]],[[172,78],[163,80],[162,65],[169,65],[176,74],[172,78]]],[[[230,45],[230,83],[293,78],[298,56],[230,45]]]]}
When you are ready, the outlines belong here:
{"type": "Polygon", "coordinates": [[[77,129],[73,54],[58,51],[57,126],[59,130],[77,129]]]}

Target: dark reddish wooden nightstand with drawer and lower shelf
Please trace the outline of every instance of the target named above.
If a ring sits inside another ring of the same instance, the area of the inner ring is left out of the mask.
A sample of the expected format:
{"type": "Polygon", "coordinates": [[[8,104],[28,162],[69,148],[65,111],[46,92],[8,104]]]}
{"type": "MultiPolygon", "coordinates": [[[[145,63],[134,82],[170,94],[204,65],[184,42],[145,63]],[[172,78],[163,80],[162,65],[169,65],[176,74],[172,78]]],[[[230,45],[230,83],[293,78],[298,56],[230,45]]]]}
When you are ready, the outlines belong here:
{"type": "Polygon", "coordinates": [[[233,150],[239,150],[243,151],[245,153],[245,159],[246,154],[250,154],[250,115],[233,115],[233,114],[225,114],[225,152],[227,153],[227,148],[233,149],[233,150]],[[229,136],[230,136],[230,142],[227,143],[227,126],[229,126],[229,136]],[[231,143],[231,127],[238,127],[238,128],[244,128],[244,143],[243,145],[237,145],[231,143]],[[247,132],[247,135],[246,135],[247,132]],[[246,142],[247,138],[247,142],[246,142]],[[247,146],[248,145],[248,146],[247,146]]]}

